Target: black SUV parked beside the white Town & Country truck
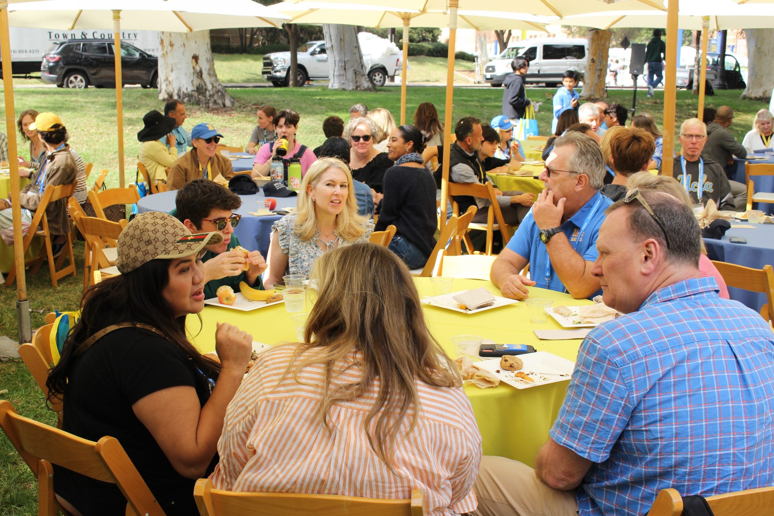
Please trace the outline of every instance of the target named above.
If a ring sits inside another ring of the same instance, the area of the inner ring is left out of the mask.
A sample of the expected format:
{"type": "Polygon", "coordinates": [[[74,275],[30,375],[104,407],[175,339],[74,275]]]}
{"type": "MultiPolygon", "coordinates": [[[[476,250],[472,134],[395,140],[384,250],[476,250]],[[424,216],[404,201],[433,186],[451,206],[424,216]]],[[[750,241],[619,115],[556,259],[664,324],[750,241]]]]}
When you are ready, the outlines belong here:
{"type": "MultiPolygon", "coordinates": [[[[112,39],[68,39],[54,43],[43,54],[40,78],[58,87],[115,87],[115,54],[112,39]]],[[[123,84],[159,87],[156,56],[121,42],[123,84]]]]}

